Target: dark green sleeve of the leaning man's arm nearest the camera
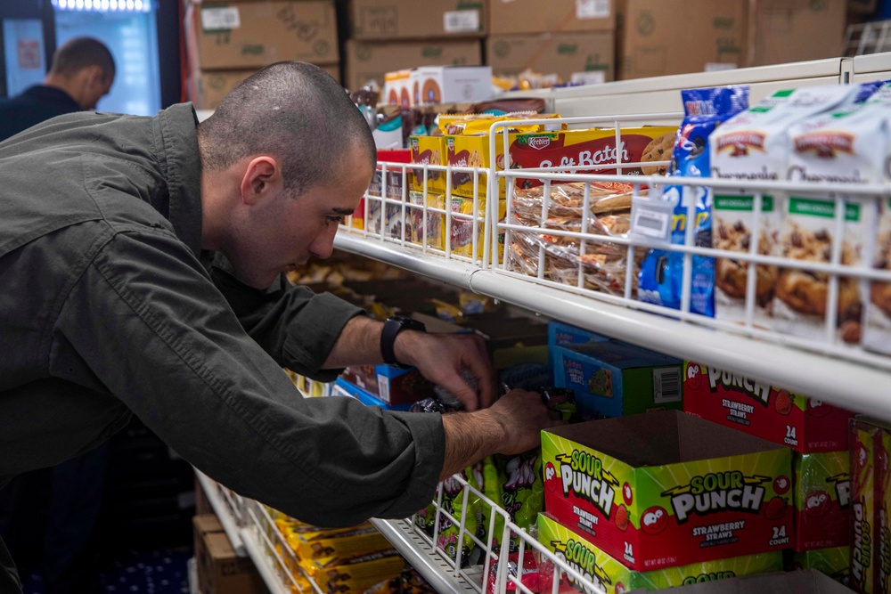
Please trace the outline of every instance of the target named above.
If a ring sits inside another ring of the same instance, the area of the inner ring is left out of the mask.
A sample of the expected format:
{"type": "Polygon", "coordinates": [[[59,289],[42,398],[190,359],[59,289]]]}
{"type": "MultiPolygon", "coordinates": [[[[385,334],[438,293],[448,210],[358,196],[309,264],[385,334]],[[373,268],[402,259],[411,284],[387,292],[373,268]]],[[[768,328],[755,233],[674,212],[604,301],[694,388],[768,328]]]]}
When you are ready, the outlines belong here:
{"type": "MultiPolygon", "coordinates": [[[[107,241],[65,299],[53,337],[54,351],[78,354],[185,460],[291,516],[354,525],[406,517],[433,496],[445,452],[439,415],[300,397],[167,232],[107,241]]],[[[51,359],[51,372],[65,377],[73,365],[51,359]]]]}

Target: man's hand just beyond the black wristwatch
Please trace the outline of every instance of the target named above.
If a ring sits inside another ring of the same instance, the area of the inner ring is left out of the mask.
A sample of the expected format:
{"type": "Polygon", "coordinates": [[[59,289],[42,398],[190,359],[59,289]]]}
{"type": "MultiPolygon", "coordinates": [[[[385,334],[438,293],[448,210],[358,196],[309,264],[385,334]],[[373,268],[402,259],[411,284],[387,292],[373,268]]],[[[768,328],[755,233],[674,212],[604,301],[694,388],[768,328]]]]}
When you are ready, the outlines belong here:
{"type": "Polygon", "coordinates": [[[414,365],[425,378],[446,388],[466,411],[487,408],[495,402],[495,370],[482,337],[405,330],[396,337],[394,350],[399,362],[414,365]],[[469,370],[477,378],[477,387],[464,381],[462,370],[469,370]]]}

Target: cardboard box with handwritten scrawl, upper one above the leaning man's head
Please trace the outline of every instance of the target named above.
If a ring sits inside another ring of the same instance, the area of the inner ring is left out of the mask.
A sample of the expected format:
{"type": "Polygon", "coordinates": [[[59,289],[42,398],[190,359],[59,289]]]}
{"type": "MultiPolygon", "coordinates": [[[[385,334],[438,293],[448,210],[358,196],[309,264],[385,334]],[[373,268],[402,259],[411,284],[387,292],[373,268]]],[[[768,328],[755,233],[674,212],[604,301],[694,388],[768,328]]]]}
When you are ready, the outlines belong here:
{"type": "Polygon", "coordinates": [[[258,69],[283,60],[339,61],[333,0],[191,4],[191,69],[258,69]]]}

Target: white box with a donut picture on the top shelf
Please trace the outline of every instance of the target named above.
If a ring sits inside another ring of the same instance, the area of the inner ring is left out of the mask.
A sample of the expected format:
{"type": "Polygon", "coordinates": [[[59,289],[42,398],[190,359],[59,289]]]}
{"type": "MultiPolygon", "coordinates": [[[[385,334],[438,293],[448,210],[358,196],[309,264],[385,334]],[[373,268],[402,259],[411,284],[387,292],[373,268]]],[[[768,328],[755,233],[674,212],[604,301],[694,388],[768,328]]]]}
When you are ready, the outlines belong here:
{"type": "Polygon", "coordinates": [[[490,66],[422,66],[412,69],[412,104],[478,102],[492,98],[490,66]]]}

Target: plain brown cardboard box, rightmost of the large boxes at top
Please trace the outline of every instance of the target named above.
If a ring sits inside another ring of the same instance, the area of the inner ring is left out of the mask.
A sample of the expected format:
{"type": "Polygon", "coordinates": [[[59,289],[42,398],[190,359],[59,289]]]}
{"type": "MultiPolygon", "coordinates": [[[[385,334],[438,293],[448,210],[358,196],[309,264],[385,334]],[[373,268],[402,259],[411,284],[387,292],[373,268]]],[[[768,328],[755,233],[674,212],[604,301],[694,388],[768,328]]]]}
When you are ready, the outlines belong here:
{"type": "Polygon", "coordinates": [[[843,55],[845,14],[846,0],[749,0],[746,65],[843,55]]]}

